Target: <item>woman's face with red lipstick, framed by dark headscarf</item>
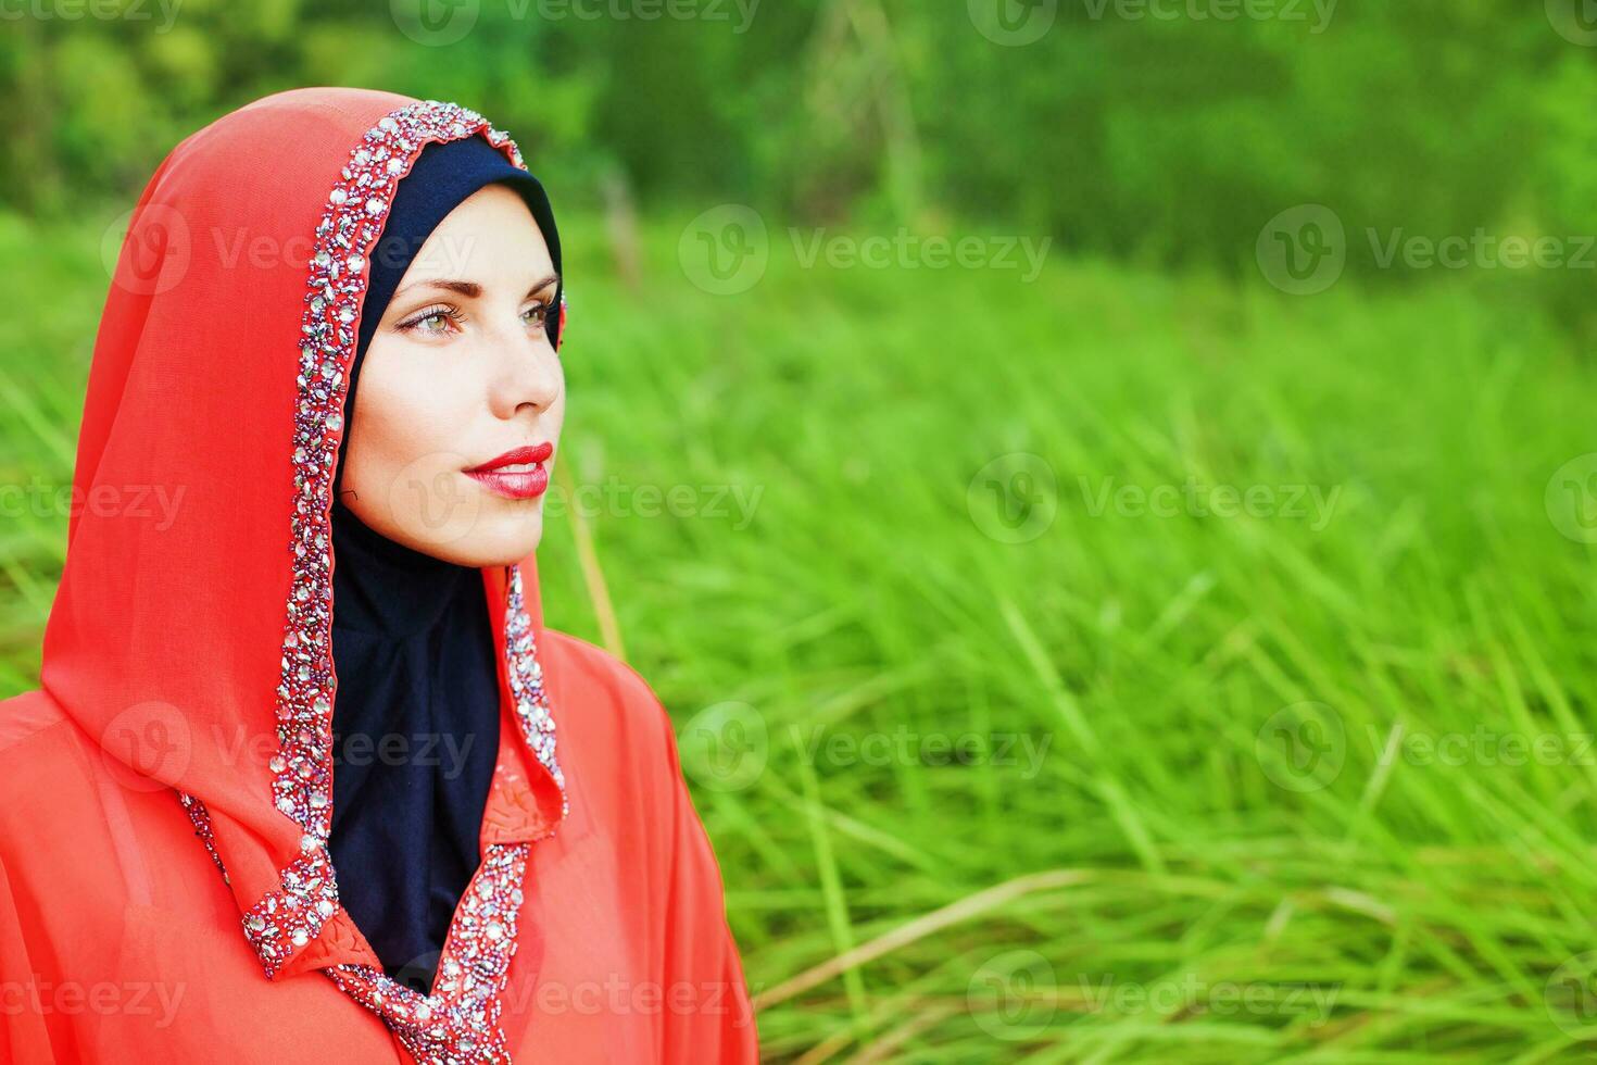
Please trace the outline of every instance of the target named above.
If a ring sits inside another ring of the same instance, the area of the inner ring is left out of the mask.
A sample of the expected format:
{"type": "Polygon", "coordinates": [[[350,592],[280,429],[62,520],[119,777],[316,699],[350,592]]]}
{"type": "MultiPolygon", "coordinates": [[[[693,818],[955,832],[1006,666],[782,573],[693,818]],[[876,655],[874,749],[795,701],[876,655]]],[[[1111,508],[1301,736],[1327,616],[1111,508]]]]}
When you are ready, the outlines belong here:
{"type": "Polygon", "coordinates": [[[511,188],[482,188],[433,230],[361,362],[339,493],[356,517],[458,565],[538,546],[565,415],[554,299],[549,249],[511,188]]]}

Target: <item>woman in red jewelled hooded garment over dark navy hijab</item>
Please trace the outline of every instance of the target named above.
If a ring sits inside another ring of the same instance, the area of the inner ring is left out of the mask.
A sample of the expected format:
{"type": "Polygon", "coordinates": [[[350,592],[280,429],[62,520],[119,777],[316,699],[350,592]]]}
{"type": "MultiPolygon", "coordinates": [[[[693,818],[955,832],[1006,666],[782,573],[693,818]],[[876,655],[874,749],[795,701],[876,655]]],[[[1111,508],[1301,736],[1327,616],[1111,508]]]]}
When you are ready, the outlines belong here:
{"type": "Polygon", "coordinates": [[[561,286],[454,104],[283,93],[160,166],[0,704],[0,1060],[755,1060],[669,720],[543,628],[561,286]]]}

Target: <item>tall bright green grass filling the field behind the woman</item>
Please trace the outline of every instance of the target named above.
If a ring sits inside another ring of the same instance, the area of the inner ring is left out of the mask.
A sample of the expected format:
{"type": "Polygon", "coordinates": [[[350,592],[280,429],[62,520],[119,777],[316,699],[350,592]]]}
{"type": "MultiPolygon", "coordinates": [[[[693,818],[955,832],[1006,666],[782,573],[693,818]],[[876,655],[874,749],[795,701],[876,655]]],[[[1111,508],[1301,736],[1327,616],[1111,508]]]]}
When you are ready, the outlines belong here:
{"type": "MultiPolygon", "coordinates": [[[[682,725],[768,1060],[1597,1054],[1594,554],[1544,503],[1597,370],[1543,318],[1456,279],[805,270],[786,236],[719,297],[668,222],[631,291],[567,228],[567,473],[755,500],[583,533],[682,725]],[[1096,503],[1188,477],[1335,505],[1096,503]],[[1052,517],[1005,543],[1000,503],[1052,517]],[[1009,746],[947,763],[969,733],[1009,746]]],[[[0,481],[70,474],[99,232],[0,220],[0,481]]],[[[64,529],[0,524],[3,693],[64,529]]],[[[605,639],[570,517],[540,570],[605,639]]]]}

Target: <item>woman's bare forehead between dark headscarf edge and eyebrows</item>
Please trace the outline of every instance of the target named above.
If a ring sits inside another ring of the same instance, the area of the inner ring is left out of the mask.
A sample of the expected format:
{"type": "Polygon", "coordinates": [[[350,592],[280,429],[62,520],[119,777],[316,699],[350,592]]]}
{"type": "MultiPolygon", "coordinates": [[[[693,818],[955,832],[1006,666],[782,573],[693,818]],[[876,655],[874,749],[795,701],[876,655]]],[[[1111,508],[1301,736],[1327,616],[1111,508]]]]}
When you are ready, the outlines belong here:
{"type": "Polygon", "coordinates": [[[553,271],[549,246],[527,201],[513,188],[487,185],[444,216],[406,270],[404,283],[449,275],[484,289],[525,289],[553,271]]]}

